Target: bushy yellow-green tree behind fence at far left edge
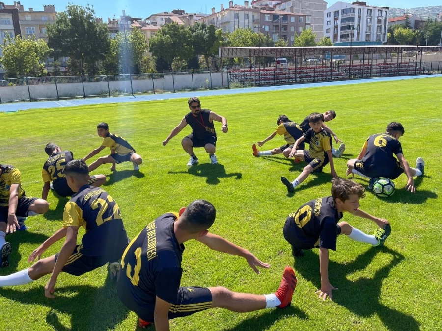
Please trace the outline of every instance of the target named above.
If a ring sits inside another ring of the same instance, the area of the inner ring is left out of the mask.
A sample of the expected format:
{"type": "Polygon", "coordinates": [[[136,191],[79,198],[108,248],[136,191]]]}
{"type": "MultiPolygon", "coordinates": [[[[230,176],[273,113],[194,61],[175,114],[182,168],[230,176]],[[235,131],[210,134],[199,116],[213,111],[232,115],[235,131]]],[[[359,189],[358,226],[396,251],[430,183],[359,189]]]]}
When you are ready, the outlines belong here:
{"type": "Polygon", "coordinates": [[[49,54],[48,44],[35,36],[22,38],[20,35],[11,39],[9,35],[3,40],[3,56],[0,62],[8,78],[25,76],[45,76],[44,60],[49,54]]]}

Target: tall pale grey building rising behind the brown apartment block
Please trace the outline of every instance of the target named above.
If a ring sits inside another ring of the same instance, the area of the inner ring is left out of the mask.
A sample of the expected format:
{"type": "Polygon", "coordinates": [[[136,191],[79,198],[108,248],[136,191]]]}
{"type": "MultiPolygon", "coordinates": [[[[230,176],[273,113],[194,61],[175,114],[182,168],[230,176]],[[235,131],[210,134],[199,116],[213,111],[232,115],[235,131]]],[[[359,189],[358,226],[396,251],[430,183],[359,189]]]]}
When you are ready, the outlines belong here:
{"type": "Polygon", "coordinates": [[[300,13],[306,16],[306,24],[316,34],[316,42],[324,36],[324,11],[327,2],[323,0],[281,0],[277,1],[276,10],[300,13]]]}

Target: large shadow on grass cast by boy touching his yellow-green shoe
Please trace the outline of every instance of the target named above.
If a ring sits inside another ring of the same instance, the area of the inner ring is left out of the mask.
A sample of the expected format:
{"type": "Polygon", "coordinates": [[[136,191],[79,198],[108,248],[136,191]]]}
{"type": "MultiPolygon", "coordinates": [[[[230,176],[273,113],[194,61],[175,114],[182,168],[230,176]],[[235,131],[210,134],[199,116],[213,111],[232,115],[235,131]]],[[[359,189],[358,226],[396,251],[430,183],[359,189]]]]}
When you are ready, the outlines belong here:
{"type": "MultiPolygon", "coordinates": [[[[311,250],[306,250],[304,253],[304,257],[295,260],[296,271],[319,289],[321,287],[319,256],[311,250]]],[[[379,302],[382,281],[388,277],[391,269],[404,259],[403,255],[384,246],[372,247],[348,264],[329,261],[331,284],[340,288],[333,292],[333,301],[360,317],[365,318],[377,314],[388,330],[418,331],[420,324],[413,316],[379,302]],[[356,281],[347,279],[348,275],[365,269],[370,261],[376,257],[378,251],[389,253],[393,257],[392,261],[387,266],[377,270],[373,278],[360,277],[356,281]]]]}

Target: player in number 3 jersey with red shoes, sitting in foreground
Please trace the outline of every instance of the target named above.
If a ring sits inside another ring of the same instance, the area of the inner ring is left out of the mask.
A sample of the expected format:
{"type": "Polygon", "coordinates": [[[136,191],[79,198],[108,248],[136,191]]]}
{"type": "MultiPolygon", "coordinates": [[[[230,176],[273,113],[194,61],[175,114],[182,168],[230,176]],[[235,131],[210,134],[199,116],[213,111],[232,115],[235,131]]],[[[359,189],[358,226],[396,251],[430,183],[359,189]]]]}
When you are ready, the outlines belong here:
{"type": "Polygon", "coordinates": [[[265,308],[284,308],[292,301],[295,272],[285,267],[279,289],[272,294],[235,293],[224,287],[181,287],[181,260],[184,243],[195,239],[210,249],[244,257],[257,267],[270,265],[248,250],[209,233],[215,221],[215,207],[196,200],[179,213],[167,213],[149,223],[132,240],[121,259],[117,295],[139,317],[141,327],[155,323],[156,330],[169,330],[169,319],[184,317],[209,308],[248,312],[265,308]]]}

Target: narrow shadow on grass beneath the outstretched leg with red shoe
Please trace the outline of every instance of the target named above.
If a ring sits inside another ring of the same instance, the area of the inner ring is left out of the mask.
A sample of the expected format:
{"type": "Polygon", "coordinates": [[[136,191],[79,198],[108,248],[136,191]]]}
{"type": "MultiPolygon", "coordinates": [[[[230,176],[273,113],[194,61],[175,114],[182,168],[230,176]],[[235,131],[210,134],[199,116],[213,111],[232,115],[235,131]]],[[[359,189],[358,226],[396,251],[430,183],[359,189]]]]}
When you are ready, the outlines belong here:
{"type": "Polygon", "coordinates": [[[267,330],[270,326],[275,324],[275,321],[283,316],[298,317],[306,320],[307,314],[298,307],[288,306],[284,309],[272,309],[260,316],[255,316],[242,321],[238,325],[225,331],[249,331],[249,330],[267,330]]]}

